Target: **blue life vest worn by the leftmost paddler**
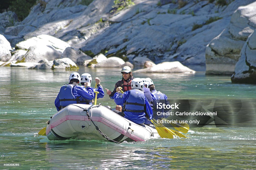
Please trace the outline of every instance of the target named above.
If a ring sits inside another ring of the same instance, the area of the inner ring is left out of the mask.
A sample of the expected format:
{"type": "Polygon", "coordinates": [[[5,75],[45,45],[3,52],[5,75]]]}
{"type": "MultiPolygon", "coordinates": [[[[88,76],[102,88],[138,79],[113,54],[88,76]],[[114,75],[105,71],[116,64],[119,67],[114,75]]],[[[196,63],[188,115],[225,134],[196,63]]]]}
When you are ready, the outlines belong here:
{"type": "Polygon", "coordinates": [[[72,89],[77,84],[65,84],[60,88],[59,99],[61,107],[66,107],[69,104],[78,103],[80,97],[77,97],[77,93],[72,92],[72,89]]]}

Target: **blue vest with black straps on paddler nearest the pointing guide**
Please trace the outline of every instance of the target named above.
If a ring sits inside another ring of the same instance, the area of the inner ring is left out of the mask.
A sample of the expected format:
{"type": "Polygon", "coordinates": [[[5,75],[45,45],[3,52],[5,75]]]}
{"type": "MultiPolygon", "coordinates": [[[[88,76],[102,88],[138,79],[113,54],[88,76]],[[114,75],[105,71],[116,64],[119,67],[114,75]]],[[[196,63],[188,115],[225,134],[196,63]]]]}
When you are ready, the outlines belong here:
{"type": "Polygon", "coordinates": [[[144,112],[144,93],[138,89],[130,90],[130,95],[124,105],[124,111],[127,112],[144,112]]]}

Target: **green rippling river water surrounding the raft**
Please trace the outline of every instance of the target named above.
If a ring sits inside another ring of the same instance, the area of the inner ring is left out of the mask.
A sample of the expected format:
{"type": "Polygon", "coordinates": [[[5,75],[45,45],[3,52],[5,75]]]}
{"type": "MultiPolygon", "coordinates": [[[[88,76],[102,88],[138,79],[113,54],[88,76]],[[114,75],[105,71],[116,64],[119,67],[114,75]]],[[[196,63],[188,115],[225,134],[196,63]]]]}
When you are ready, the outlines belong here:
{"type": "MultiPolygon", "coordinates": [[[[122,77],[120,68],[84,67],[77,72],[99,77],[111,90],[122,77]]],[[[187,139],[121,144],[49,141],[37,133],[56,113],[54,100],[70,73],[0,67],[0,169],[256,169],[255,127],[191,127],[187,139]]],[[[134,75],[150,77],[168,99],[256,99],[255,85],[232,84],[229,76],[134,75]]],[[[97,102],[115,106],[108,96],[97,102]]]]}

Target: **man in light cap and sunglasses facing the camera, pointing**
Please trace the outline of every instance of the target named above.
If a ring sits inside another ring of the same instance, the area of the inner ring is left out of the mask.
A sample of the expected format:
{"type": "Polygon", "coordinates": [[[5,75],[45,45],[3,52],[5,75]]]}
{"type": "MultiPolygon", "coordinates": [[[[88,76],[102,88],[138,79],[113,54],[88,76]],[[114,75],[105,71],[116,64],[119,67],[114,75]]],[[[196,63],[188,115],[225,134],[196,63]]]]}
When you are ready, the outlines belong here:
{"type": "MultiPolygon", "coordinates": [[[[121,70],[121,74],[122,74],[122,80],[119,80],[118,82],[115,83],[115,88],[113,91],[109,90],[109,89],[105,89],[107,91],[107,94],[109,95],[110,99],[114,99],[114,94],[116,92],[116,88],[117,87],[122,87],[122,91],[128,91],[131,90],[131,83],[133,78],[133,73],[132,73],[132,69],[129,66],[124,66],[121,70]]],[[[120,105],[116,105],[116,110],[118,111],[122,111],[122,106],[120,105]]]]}

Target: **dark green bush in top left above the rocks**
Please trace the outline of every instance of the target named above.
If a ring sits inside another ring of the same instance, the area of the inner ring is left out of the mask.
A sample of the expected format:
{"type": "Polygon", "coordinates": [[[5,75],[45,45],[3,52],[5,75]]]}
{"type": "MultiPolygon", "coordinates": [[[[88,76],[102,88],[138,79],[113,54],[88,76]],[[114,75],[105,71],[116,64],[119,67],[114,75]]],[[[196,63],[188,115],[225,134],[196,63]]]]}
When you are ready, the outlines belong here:
{"type": "Polygon", "coordinates": [[[30,8],[34,5],[36,5],[36,0],[14,0],[10,3],[9,10],[15,12],[18,19],[22,21],[28,16],[30,8]]]}

